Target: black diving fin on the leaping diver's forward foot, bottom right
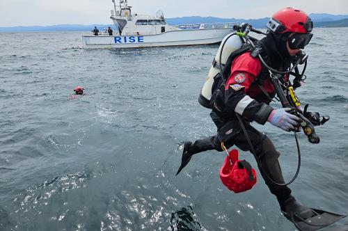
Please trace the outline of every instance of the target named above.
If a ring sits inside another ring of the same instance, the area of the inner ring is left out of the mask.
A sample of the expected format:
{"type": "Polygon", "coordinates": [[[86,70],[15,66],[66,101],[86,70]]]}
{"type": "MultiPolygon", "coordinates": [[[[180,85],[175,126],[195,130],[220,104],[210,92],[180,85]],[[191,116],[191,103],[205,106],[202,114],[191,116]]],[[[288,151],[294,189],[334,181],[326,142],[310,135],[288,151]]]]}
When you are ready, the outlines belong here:
{"type": "Polygon", "coordinates": [[[308,208],[301,205],[293,197],[285,201],[284,209],[284,216],[301,231],[319,230],[347,216],[308,208]]]}

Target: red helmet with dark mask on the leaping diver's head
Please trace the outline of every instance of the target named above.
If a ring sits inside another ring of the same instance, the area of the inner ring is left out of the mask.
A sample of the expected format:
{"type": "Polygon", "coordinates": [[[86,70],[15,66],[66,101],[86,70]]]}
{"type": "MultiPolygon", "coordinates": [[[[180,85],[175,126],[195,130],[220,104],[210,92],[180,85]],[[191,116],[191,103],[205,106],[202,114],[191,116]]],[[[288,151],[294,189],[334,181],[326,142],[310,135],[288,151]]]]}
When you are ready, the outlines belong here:
{"type": "Polygon", "coordinates": [[[267,22],[267,29],[272,33],[294,33],[289,38],[291,49],[303,49],[313,34],[313,22],[303,11],[296,8],[284,8],[278,10],[267,22]]]}

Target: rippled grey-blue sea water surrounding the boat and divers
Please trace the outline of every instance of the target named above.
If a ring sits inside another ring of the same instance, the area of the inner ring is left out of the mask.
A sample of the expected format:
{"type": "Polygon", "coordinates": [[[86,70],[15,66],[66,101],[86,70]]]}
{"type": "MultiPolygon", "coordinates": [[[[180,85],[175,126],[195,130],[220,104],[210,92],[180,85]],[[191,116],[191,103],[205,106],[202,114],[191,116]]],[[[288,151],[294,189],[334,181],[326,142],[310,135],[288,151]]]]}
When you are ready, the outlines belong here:
{"type": "MultiPolygon", "coordinates": [[[[82,34],[0,33],[0,230],[296,230],[258,170],[250,191],[223,186],[223,152],[195,155],[175,177],[183,142],[216,132],[197,99],[219,45],[85,50],[82,34]],[[72,97],[76,86],[85,95],[72,97]]],[[[317,145],[298,135],[290,188],[348,214],[348,28],[314,34],[296,93],[331,120],[317,145]]],[[[290,180],[293,134],[255,127],[290,180]]]]}

